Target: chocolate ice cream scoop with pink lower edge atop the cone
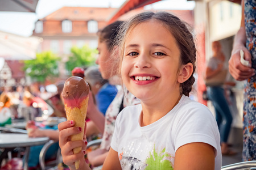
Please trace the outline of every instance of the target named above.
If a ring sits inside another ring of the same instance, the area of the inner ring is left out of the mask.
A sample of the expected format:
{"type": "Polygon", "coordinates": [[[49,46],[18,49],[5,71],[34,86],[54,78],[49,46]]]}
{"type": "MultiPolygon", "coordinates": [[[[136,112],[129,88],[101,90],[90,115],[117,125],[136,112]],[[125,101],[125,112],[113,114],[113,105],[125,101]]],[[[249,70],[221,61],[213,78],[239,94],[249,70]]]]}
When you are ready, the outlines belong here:
{"type": "Polygon", "coordinates": [[[88,97],[90,88],[88,83],[79,76],[71,76],[64,84],[62,96],[67,107],[80,107],[82,100],[88,97]]]}

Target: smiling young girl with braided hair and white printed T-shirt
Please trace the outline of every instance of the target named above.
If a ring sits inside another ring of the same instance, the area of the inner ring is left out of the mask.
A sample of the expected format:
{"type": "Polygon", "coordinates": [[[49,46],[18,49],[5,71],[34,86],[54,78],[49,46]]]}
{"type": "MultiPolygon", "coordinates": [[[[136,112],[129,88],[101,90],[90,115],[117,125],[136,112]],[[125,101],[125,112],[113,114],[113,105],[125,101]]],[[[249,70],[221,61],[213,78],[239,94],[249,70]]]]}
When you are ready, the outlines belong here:
{"type": "MultiPolygon", "coordinates": [[[[141,104],[117,117],[109,154],[102,169],[221,169],[220,134],[203,104],[189,99],[196,49],[186,25],[167,12],[143,12],[120,31],[121,75],[141,104]]],[[[71,122],[59,124],[64,163],[84,154],[69,141],[79,133],[71,122]]],[[[79,169],[88,169],[84,161],[79,169]]]]}

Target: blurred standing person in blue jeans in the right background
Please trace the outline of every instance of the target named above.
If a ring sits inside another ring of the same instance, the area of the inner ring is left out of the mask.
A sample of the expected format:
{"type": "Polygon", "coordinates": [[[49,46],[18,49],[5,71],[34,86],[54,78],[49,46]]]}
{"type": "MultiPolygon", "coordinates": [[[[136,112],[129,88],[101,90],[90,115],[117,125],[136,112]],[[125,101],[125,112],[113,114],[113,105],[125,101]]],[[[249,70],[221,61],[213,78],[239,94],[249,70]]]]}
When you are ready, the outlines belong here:
{"type": "Polygon", "coordinates": [[[229,149],[228,137],[233,121],[232,114],[229,109],[228,101],[225,97],[224,84],[226,83],[226,73],[228,66],[225,66],[225,56],[221,50],[219,41],[212,42],[213,57],[209,59],[205,79],[216,78],[212,84],[206,84],[207,95],[209,100],[212,101],[216,113],[216,121],[221,136],[221,152],[222,155],[234,155],[236,152],[229,149]],[[223,82],[216,84],[217,79],[222,79],[223,82]]]}

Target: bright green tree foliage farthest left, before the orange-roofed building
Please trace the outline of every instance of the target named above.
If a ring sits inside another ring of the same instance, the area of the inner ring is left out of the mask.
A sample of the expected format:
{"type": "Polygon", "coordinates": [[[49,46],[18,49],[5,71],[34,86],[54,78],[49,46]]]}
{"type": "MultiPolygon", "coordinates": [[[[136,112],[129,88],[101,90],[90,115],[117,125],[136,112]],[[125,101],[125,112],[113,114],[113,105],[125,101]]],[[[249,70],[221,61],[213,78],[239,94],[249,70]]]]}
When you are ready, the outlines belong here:
{"type": "Polygon", "coordinates": [[[24,61],[24,70],[37,82],[45,82],[48,76],[58,76],[58,62],[60,58],[52,52],[36,54],[36,58],[24,61]]]}

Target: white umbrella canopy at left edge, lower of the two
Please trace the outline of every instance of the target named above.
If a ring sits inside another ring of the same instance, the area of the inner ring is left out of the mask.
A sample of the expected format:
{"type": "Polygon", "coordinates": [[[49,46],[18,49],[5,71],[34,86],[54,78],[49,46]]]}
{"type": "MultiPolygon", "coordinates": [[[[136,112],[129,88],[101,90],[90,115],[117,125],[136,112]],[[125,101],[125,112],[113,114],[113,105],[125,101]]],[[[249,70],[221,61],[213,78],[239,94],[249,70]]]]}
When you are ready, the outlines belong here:
{"type": "Polygon", "coordinates": [[[34,59],[42,41],[42,38],[36,36],[23,37],[0,31],[0,57],[5,60],[34,59]]]}

